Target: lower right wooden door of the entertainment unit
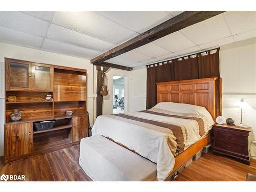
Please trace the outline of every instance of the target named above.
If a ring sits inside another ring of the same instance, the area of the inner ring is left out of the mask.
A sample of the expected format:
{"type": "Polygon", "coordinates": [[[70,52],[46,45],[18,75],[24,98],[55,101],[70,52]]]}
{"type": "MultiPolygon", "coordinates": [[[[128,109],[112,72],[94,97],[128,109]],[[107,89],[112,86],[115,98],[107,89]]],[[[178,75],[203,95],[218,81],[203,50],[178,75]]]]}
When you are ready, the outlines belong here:
{"type": "Polygon", "coordinates": [[[87,116],[72,118],[72,142],[80,141],[87,137],[88,134],[88,118],[87,116]]]}

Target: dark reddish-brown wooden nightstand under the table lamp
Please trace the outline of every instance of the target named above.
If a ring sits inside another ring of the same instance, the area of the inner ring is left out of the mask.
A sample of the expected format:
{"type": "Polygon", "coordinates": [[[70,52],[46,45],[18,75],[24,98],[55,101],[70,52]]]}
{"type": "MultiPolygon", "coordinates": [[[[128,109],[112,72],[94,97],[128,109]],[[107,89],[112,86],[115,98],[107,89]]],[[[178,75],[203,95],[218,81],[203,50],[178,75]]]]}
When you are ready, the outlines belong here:
{"type": "Polygon", "coordinates": [[[250,132],[251,128],[245,129],[227,124],[215,124],[213,153],[232,157],[250,165],[248,147],[250,132]]]}

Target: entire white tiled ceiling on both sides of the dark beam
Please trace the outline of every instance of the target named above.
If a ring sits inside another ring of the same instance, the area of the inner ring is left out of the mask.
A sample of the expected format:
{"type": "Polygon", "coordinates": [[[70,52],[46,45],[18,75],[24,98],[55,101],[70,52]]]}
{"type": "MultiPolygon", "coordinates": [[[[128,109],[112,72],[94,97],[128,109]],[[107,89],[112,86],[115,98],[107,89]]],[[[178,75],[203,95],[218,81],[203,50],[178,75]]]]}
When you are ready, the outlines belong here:
{"type": "MultiPolygon", "coordinates": [[[[92,59],[183,11],[0,11],[0,41],[92,59]]],[[[227,11],[109,59],[137,67],[256,36],[256,11],[227,11]]]]}

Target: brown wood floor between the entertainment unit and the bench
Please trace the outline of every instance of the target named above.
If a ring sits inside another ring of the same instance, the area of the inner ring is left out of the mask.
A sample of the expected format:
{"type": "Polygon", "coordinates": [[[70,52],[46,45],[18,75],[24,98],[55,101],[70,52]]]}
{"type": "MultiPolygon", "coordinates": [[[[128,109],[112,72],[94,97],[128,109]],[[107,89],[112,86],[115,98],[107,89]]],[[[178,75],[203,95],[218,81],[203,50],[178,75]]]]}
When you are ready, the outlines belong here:
{"type": "Polygon", "coordinates": [[[78,164],[79,145],[6,165],[0,175],[25,175],[26,181],[91,181],[78,164]]]}

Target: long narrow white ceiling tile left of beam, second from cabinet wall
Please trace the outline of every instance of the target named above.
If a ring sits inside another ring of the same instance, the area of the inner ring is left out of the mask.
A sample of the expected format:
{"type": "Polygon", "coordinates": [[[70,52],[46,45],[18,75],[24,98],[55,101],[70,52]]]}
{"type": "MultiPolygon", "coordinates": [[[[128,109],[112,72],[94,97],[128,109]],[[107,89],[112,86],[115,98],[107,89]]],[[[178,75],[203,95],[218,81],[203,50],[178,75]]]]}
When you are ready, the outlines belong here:
{"type": "Polygon", "coordinates": [[[50,25],[47,37],[53,40],[67,42],[68,44],[100,52],[105,52],[116,47],[116,45],[110,44],[109,42],[88,35],[84,35],[82,33],[72,31],[70,29],[60,27],[54,24],[50,25]]]}

